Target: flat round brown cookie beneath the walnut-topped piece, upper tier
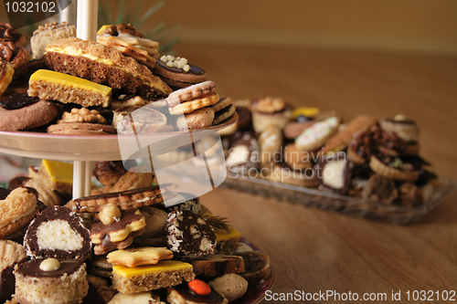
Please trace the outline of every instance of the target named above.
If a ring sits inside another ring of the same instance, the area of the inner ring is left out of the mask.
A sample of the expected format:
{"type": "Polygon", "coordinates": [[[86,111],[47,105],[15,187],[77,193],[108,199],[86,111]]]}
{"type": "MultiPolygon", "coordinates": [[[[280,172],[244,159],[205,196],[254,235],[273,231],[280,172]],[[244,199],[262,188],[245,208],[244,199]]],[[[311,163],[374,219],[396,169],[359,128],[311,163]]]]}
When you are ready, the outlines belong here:
{"type": "Polygon", "coordinates": [[[101,123],[63,122],[48,127],[49,134],[62,135],[110,135],[116,131],[112,126],[101,123]]]}

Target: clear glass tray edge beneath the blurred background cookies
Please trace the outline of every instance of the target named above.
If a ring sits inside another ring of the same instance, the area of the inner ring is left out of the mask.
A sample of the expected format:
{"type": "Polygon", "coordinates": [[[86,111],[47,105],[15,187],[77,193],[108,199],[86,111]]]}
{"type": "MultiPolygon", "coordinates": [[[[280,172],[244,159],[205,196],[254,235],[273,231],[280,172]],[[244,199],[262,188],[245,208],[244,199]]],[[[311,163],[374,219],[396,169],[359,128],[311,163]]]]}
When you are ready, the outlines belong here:
{"type": "Polygon", "coordinates": [[[433,208],[441,204],[455,191],[457,183],[451,179],[441,177],[433,182],[434,190],[430,198],[423,204],[414,207],[367,202],[356,197],[332,194],[286,183],[276,183],[259,178],[234,177],[230,173],[228,173],[227,179],[222,183],[222,186],[252,194],[274,197],[281,201],[314,206],[344,215],[406,225],[415,223],[424,215],[429,214],[433,208]]]}

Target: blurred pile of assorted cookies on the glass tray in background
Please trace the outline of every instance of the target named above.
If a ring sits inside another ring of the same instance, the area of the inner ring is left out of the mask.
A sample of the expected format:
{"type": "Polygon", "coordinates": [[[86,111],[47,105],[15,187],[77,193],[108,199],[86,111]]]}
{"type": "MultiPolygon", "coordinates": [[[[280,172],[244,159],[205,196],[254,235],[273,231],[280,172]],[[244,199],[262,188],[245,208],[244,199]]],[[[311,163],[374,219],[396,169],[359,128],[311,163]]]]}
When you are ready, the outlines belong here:
{"type": "Polygon", "coordinates": [[[438,184],[419,155],[419,126],[404,115],[344,122],[335,111],[292,109],[282,98],[234,103],[238,123],[219,131],[232,177],[408,207],[426,202],[438,184]]]}

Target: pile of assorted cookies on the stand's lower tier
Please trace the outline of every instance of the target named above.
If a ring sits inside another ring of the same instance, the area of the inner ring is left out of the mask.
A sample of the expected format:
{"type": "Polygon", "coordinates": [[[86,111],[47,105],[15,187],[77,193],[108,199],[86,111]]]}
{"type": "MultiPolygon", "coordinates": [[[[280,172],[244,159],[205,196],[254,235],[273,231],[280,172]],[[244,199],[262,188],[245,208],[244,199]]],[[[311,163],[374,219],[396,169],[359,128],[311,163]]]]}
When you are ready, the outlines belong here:
{"type": "Polygon", "coordinates": [[[271,276],[226,218],[126,166],[96,162],[78,199],[67,162],[0,189],[1,303],[228,303],[271,276]]]}

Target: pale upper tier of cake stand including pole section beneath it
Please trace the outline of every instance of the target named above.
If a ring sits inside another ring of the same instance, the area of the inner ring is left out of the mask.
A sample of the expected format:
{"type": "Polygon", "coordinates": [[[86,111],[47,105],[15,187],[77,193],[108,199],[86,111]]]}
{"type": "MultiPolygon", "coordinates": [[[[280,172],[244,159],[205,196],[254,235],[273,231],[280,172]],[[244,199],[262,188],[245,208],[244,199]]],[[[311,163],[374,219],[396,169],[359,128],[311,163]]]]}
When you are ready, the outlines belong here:
{"type": "Polygon", "coordinates": [[[205,130],[150,135],[77,136],[26,131],[0,131],[0,152],[28,158],[73,162],[73,198],[90,194],[91,162],[150,158],[197,142],[238,121],[235,112],[227,121],[205,130]]]}

